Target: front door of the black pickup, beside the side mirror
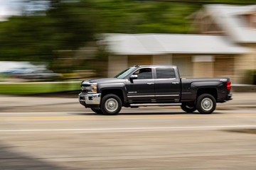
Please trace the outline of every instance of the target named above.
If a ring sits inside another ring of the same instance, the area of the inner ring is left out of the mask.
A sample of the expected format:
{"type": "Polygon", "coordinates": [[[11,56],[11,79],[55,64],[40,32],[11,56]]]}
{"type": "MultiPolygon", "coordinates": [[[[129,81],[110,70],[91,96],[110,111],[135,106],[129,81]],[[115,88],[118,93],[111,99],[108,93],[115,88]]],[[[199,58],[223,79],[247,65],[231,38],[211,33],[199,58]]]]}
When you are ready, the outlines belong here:
{"type": "Polygon", "coordinates": [[[127,80],[127,97],[133,103],[154,101],[154,79],[151,68],[142,68],[134,72],[137,79],[127,80]]]}

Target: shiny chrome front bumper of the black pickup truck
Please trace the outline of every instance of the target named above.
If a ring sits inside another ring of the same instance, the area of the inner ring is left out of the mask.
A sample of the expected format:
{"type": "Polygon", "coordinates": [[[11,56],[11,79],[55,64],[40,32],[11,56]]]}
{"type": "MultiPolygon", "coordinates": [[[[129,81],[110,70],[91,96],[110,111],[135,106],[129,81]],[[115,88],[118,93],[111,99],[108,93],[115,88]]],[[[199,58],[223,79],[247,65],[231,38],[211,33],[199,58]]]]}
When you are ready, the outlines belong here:
{"type": "Polygon", "coordinates": [[[78,94],[79,102],[85,106],[98,106],[100,105],[101,94],[78,94]]]}

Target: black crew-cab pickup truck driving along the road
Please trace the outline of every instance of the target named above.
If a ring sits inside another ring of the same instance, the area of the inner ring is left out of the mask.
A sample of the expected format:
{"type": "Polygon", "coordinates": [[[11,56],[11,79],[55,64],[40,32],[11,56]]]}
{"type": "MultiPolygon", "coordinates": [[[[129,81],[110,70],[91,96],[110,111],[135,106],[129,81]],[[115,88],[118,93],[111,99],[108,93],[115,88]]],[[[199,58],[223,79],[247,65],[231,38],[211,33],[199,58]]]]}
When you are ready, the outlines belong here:
{"type": "Polygon", "coordinates": [[[206,114],[232,99],[230,89],[228,78],[180,79],[176,66],[137,65],[114,78],[82,81],[79,101],[105,115],[117,115],[122,106],[181,106],[206,114]]]}

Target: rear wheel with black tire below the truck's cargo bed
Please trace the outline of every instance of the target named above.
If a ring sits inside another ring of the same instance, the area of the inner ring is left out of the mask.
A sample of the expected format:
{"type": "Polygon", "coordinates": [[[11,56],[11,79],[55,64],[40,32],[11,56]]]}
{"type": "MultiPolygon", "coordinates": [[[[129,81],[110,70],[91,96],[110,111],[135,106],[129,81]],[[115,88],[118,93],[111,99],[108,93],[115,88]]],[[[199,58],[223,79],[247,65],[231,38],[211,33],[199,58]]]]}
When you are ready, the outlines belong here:
{"type": "Polygon", "coordinates": [[[199,113],[210,114],[216,108],[216,100],[210,94],[201,94],[196,101],[196,109],[199,113]]]}

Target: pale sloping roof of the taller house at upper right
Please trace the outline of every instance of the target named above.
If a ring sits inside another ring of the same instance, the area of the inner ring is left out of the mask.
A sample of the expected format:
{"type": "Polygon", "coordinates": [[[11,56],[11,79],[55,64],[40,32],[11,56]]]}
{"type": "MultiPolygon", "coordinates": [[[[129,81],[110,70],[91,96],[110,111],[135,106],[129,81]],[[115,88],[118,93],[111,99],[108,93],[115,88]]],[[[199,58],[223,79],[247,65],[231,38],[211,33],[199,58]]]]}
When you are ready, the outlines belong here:
{"type": "Polygon", "coordinates": [[[256,12],[256,5],[234,6],[234,5],[205,5],[204,8],[210,16],[218,23],[225,33],[235,42],[255,43],[256,30],[247,26],[242,14],[256,12]]]}

